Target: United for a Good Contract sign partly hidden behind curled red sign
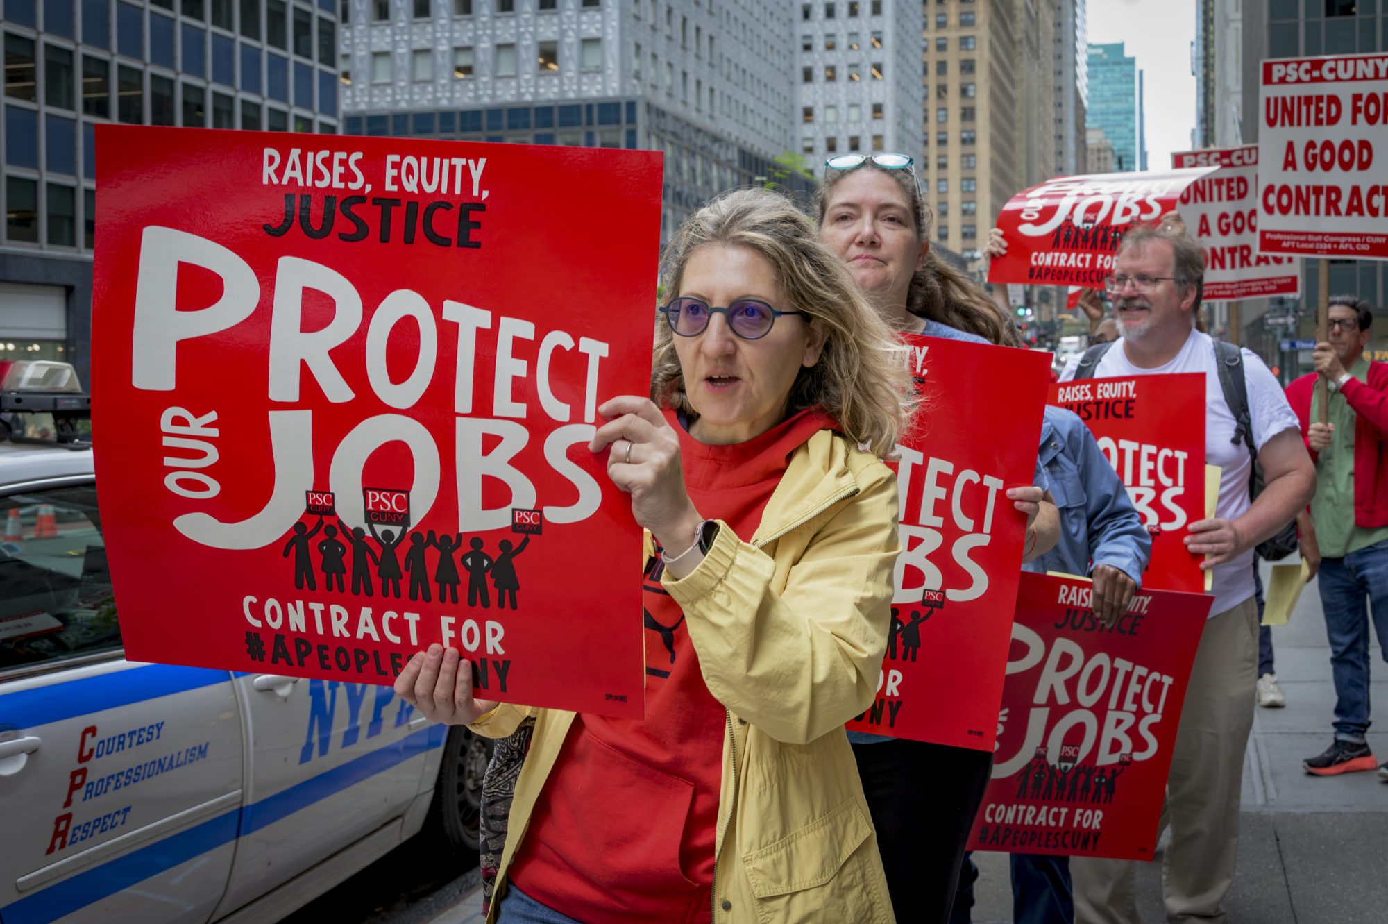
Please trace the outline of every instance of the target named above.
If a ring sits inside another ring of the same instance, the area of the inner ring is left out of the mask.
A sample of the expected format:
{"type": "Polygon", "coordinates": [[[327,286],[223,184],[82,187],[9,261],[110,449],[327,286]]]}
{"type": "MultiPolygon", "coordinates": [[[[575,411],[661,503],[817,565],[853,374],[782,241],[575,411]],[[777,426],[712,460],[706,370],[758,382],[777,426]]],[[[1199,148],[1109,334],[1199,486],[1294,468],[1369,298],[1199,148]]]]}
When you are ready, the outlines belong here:
{"type": "Polygon", "coordinates": [[[1185,187],[1180,212],[1205,247],[1205,301],[1301,291],[1301,261],[1258,253],[1258,146],[1171,154],[1176,166],[1217,166],[1185,187]]]}

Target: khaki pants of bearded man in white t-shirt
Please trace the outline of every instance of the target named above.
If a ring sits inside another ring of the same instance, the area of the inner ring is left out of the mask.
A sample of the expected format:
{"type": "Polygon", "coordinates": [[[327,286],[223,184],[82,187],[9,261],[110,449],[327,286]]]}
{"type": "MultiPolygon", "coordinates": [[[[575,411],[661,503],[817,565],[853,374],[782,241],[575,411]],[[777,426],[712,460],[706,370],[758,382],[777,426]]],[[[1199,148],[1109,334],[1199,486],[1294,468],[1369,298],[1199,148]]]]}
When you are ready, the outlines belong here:
{"type": "MultiPolygon", "coordinates": [[[[1162,864],[1170,924],[1224,920],[1256,683],[1258,605],[1249,598],[1205,623],[1191,667],[1158,828],[1158,837],[1171,828],[1162,864]]],[[[1137,862],[1074,857],[1070,874],[1076,924],[1141,924],[1137,862]]]]}

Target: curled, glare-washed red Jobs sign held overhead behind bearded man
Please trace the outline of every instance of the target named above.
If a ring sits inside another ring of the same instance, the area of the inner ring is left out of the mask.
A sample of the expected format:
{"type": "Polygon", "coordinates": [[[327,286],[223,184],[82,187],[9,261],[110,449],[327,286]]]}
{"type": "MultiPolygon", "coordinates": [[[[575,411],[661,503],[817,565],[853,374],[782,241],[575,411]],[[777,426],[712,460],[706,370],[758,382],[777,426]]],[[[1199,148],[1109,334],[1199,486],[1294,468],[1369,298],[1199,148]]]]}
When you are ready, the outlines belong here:
{"type": "Polygon", "coordinates": [[[1214,169],[1058,176],[1024,189],[998,215],[1008,253],[988,265],[988,282],[1102,289],[1123,232],[1173,211],[1214,169]]]}

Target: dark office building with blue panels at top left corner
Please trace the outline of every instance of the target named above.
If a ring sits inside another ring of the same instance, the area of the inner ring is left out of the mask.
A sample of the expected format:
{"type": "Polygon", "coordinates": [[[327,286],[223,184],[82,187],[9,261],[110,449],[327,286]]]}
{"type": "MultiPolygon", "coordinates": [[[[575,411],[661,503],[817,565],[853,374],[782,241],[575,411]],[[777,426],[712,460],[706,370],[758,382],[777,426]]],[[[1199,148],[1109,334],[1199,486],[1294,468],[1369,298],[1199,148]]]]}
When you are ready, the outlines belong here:
{"type": "Polygon", "coordinates": [[[336,0],[4,0],[3,40],[0,361],[87,380],[96,125],[336,132],[336,0]]]}

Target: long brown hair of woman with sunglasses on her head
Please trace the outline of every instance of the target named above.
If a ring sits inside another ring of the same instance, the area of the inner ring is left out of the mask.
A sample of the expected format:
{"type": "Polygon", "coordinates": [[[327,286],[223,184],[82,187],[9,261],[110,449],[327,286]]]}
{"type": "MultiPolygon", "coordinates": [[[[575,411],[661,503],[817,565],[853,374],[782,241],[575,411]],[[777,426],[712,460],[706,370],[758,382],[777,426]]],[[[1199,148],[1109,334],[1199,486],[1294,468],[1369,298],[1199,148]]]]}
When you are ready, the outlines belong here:
{"type": "MultiPolygon", "coordinates": [[[[901,187],[901,191],[906,196],[906,201],[911,203],[916,237],[927,240],[934,215],[930,214],[930,207],[920,197],[912,178],[906,171],[883,169],[872,161],[863,161],[862,166],[856,166],[852,171],[829,172],[829,176],[819,185],[811,200],[816,223],[820,226],[824,223],[829,194],[834,186],[855,171],[869,169],[890,176],[901,187]]],[[[927,318],[977,334],[988,343],[1004,347],[1020,345],[1012,318],[988,297],[987,291],[947,261],[941,259],[934,248],[926,251],[924,264],[911,279],[911,287],[906,290],[906,311],[917,318],[927,318]]]]}

